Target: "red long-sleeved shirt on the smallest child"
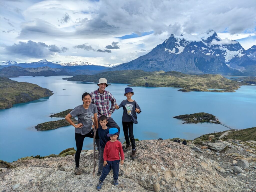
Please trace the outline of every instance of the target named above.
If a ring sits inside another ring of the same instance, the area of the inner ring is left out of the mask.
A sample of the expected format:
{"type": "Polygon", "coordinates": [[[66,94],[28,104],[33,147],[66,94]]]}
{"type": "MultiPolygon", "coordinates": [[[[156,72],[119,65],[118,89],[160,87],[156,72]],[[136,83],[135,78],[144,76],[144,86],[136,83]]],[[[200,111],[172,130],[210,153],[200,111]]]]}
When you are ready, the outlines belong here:
{"type": "Polygon", "coordinates": [[[104,148],[103,159],[104,161],[120,160],[119,153],[121,160],[124,160],[124,152],[121,142],[118,140],[114,142],[108,141],[104,148]]]}

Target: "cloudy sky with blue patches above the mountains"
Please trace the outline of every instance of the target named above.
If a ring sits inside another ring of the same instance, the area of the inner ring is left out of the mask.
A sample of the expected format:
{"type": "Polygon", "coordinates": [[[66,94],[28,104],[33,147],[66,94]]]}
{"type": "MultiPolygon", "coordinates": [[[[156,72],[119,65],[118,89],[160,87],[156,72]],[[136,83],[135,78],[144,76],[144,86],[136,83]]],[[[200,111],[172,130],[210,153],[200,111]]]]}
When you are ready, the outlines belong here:
{"type": "Polygon", "coordinates": [[[170,34],[214,29],[256,45],[254,0],[0,0],[0,61],[124,63],[170,34]]]}

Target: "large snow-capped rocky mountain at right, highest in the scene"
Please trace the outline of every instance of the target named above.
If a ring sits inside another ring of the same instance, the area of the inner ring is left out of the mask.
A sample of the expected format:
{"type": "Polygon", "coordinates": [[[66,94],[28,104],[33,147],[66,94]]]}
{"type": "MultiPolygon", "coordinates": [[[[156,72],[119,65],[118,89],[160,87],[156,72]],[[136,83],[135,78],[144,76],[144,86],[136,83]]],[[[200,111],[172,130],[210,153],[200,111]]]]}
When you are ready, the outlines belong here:
{"type": "Polygon", "coordinates": [[[179,71],[241,75],[256,65],[238,41],[221,39],[214,30],[200,35],[171,34],[148,54],[110,70],[179,71]]]}

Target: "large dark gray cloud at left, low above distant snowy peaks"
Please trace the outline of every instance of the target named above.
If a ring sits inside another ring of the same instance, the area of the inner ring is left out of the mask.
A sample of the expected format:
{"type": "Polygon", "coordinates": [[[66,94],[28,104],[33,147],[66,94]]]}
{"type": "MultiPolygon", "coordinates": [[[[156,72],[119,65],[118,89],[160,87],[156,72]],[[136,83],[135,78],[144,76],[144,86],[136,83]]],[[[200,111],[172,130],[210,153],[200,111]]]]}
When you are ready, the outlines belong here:
{"type": "Polygon", "coordinates": [[[56,45],[46,45],[43,42],[19,42],[12,46],[5,46],[6,52],[9,55],[17,54],[27,57],[46,57],[55,53],[62,53],[68,50],[66,47],[59,48],[56,45]]]}

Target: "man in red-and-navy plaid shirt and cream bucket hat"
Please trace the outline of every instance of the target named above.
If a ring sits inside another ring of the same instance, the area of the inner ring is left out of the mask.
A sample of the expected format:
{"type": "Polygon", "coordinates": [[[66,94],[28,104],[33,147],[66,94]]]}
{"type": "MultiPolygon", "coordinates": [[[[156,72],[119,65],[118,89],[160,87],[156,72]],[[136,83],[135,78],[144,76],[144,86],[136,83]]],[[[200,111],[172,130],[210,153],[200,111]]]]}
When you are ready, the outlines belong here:
{"type": "MultiPolygon", "coordinates": [[[[111,117],[111,114],[115,111],[116,100],[109,91],[105,90],[105,88],[109,86],[107,80],[105,78],[100,78],[98,86],[99,89],[91,92],[91,103],[94,103],[97,106],[98,121],[100,120],[101,115],[106,115],[108,117],[106,126],[110,128],[115,127],[120,131],[120,127],[111,117]],[[109,107],[109,101],[111,102],[111,107],[109,107]]],[[[98,125],[101,127],[100,123],[98,123],[98,125]]]]}

